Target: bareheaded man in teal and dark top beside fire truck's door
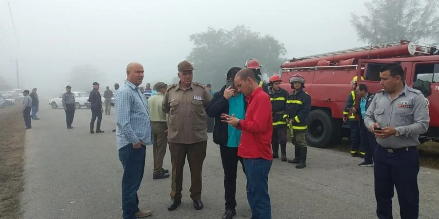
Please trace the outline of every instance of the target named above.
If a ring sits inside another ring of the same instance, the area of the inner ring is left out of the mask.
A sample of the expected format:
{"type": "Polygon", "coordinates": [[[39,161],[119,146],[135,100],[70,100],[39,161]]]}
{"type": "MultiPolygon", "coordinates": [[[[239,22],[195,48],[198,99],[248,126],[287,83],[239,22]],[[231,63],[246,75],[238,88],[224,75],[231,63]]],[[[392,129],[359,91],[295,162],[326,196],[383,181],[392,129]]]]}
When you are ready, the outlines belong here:
{"type": "Polygon", "coordinates": [[[364,125],[364,116],[366,115],[367,108],[369,108],[370,103],[374,99],[374,94],[367,91],[367,86],[365,84],[360,84],[357,87],[357,93],[360,96],[359,102],[359,128],[360,128],[360,144],[361,148],[364,148],[366,155],[364,157],[364,162],[358,164],[359,166],[373,166],[373,157],[375,152],[375,146],[377,146],[377,139],[374,133],[370,132],[368,128],[364,125]]]}

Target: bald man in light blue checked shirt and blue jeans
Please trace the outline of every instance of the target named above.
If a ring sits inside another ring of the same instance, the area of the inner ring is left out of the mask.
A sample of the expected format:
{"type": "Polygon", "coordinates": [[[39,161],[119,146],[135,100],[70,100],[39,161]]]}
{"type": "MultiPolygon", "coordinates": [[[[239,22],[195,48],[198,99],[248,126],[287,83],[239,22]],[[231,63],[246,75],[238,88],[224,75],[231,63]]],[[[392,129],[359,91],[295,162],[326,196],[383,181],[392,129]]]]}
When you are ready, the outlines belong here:
{"type": "Polygon", "coordinates": [[[127,79],[116,92],[116,139],[123,167],[123,219],[148,217],[150,210],[140,210],[137,191],[145,169],[146,145],[152,145],[148,104],[140,93],[143,66],[132,62],[126,67],[127,79]]]}

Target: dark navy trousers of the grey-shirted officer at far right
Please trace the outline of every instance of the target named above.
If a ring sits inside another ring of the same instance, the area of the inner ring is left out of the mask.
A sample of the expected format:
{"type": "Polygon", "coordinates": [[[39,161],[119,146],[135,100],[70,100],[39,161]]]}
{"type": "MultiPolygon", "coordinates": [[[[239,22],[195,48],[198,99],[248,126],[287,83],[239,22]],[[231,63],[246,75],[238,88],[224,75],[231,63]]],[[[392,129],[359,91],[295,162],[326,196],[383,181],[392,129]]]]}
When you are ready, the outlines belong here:
{"type": "Polygon", "coordinates": [[[374,158],[378,218],[393,218],[392,198],[395,185],[401,219],[417,219],[419,216],[418,149],[390,153],[378,145],[374,158]]]}

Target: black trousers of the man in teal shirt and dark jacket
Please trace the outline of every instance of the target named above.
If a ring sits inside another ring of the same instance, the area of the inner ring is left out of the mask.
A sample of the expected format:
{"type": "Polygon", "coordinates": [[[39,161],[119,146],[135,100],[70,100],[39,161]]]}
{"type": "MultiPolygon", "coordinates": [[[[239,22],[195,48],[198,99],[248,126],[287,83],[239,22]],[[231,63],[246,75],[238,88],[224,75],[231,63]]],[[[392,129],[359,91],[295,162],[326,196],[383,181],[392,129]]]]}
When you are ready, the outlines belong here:
{"type": "Polygon", "coordinates": [[[236,208],[236,173],[238,161],[241,162],[245,174],[244,163],[238,156],[238,147],[220,146],[222,168],[224,169],[224,199],[225,209],[236,208]]]}

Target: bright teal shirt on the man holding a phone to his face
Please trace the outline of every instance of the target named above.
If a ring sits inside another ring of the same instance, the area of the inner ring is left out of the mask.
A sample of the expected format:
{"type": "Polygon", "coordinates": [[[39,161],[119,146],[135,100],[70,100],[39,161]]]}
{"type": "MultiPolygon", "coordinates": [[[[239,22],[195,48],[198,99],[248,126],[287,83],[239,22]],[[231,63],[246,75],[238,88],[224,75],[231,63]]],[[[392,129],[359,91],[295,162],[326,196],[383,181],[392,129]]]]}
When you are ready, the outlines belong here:
{"type": "MultiPolygon", "coordinates": [[[[229,99],[229,115],[235,114],[238,119],[244,119],[245,109],[244,109],[244,95],[239,93],[237,96],[232,96],[229,99]]],[[[227,146],[228,147],[238,147],[239,141],[241,140],[241,130],[234,128],[231,125],[227,125],[227,146]]]]}

